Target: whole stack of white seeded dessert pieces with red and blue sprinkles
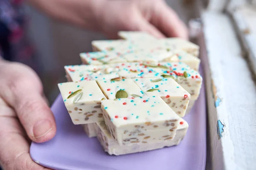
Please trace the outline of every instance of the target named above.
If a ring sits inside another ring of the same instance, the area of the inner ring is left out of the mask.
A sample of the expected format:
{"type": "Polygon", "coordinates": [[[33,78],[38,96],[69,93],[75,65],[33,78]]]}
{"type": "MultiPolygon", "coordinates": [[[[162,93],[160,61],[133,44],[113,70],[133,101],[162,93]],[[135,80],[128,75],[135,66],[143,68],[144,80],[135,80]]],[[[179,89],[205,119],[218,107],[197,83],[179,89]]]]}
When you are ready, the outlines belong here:
{"type": "Polygon", "coordinates": [[[111,155],[179,144],[202,84],[198,45],[144,32],[119,37],[93,41],[94,52],[80,54],[84,65],[64,67],[68,82],[58,87],[73,124],[111,155]]]}

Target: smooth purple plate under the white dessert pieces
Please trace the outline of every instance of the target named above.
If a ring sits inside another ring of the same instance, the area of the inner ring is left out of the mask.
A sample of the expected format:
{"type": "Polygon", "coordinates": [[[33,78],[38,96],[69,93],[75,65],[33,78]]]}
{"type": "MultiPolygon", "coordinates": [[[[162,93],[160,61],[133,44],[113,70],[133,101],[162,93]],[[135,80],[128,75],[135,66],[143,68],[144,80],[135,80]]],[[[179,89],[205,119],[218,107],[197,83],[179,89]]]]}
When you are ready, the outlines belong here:
{"type": "Polygon", "coordinates": [[[206,102],[204,84],[189,115],[183,141],[142,153],[110,156],[96,138],[88,138],[80,125],[73,125],[59,95],[52,105],[57,133],[49,142],[32,143],[30,155],[44,167],[56,170],[205,170],[206,102]]]}

